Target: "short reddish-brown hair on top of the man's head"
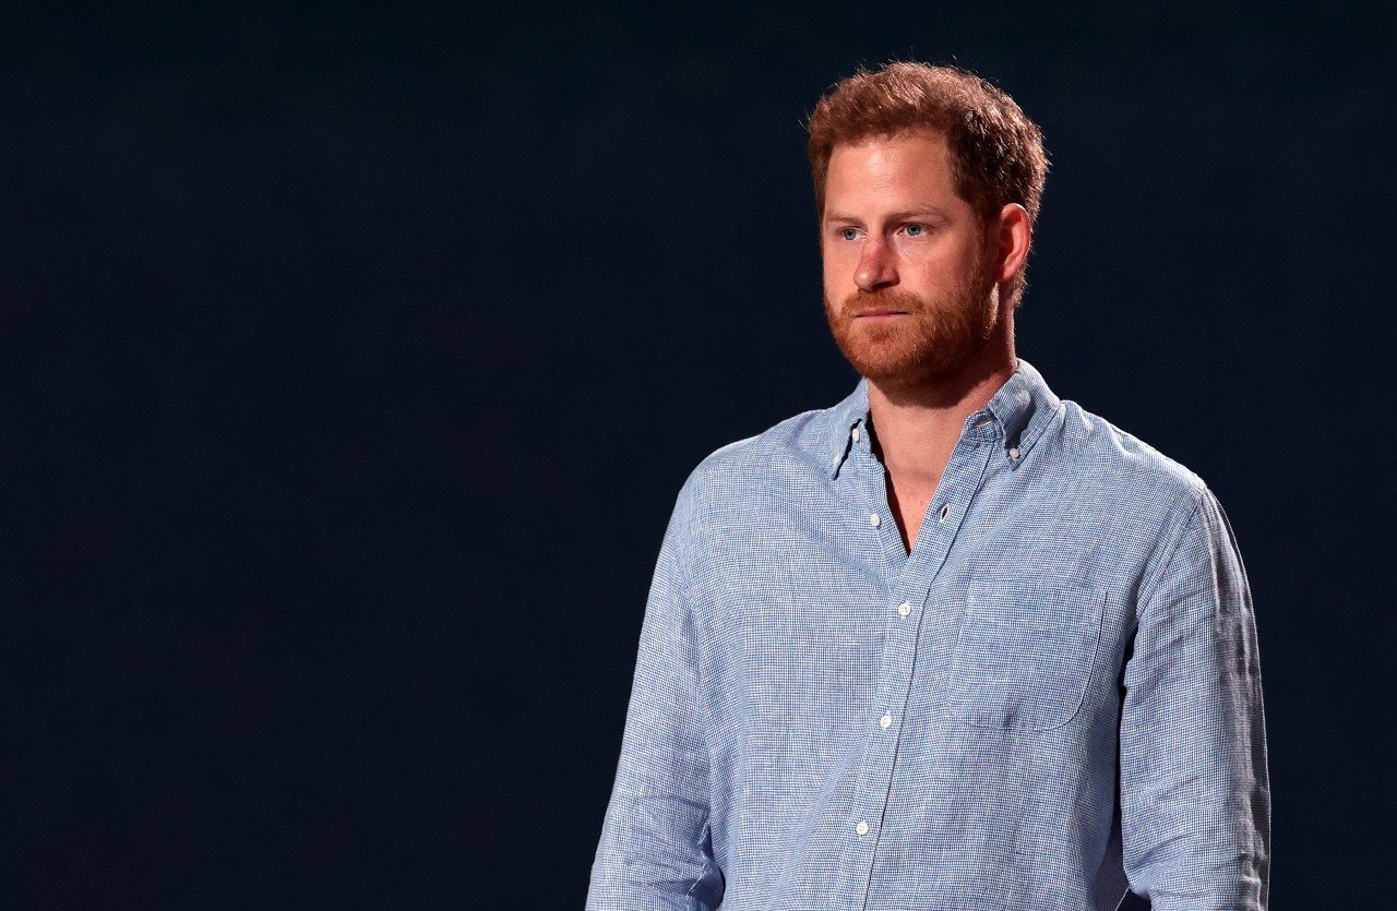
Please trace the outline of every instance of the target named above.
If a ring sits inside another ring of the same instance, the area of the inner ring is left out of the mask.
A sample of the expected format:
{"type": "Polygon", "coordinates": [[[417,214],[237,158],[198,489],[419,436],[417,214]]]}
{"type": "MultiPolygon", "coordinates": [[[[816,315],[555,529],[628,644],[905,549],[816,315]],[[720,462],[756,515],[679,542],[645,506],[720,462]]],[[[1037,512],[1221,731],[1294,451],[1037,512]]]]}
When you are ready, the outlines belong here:
{"type": "MultiPolygon", "coordinates": [[[[935,130],[946,137],[956,191],[981,224],[1009,203],[1038,221],[1048,154],[1042,130],[1002,89],[958,67],[897,60],[876,73],[861,67],[835,82],[806,122],[816,217],[824,218],[824,182],[830,155],[854,144],[907,130],[935,130]]],[[[1010,293],[1023,293],[1020,271],[1010,293]]]]}

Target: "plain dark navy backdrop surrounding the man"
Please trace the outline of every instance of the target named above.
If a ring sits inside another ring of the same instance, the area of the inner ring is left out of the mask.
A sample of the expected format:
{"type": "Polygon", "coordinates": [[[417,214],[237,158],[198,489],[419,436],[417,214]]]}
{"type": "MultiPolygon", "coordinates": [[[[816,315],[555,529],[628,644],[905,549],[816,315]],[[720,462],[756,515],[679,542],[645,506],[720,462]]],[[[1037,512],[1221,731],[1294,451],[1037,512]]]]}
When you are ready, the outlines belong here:
{"type": "Polygon", "coordinates": [[[893,56],[1042,126],[1018,352],[1228,510],[1277,907],[1383,904],[1386,6],[31,6],[6,904],[580,907],[680,482],[856,380],[800,122],[893,56]]]}

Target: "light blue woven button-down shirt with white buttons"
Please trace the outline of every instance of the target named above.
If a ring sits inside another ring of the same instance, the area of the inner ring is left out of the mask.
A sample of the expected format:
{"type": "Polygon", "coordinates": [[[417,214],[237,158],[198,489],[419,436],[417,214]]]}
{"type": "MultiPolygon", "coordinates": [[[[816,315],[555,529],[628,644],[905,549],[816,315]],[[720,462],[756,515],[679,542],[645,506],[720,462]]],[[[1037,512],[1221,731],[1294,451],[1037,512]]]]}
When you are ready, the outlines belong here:
{"type": "Polygon", "coordinates": [[[1252,597],[1192,471],[1016,372],[911,553],[868,380],[665,531],[587,907],[1264,908],[1252,597]]]}

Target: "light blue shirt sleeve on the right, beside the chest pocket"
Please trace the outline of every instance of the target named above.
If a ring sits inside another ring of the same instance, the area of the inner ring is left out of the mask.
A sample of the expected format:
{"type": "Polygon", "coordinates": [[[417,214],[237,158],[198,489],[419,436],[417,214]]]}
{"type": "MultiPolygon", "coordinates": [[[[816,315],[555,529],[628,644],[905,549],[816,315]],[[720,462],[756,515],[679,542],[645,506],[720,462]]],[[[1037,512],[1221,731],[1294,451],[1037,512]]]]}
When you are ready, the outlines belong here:
{"type": "Polygon", "coordinates": [[[1155,911],[1264,911],[1271,795],[1256,619],[1211,490],[1143,598],[1120,714],[1130,887],[1155,911]]]}

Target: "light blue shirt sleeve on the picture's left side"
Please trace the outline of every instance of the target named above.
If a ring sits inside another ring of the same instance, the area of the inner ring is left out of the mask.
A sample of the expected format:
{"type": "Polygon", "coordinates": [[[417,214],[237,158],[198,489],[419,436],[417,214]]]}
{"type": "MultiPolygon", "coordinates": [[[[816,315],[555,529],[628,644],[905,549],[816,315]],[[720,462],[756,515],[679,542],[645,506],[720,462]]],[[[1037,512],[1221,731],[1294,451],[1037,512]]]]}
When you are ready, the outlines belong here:
{"type": "Polygon", "coordinates": [[[698,643],[685,599],[693,488],[690,476],[651,580],[588,911],[701,911],[722,900],[708,837],[698,643]]]}

